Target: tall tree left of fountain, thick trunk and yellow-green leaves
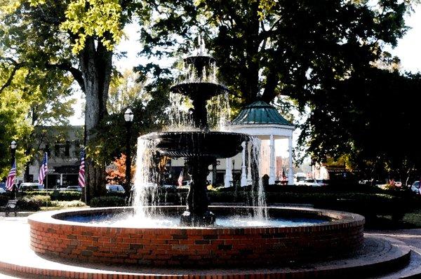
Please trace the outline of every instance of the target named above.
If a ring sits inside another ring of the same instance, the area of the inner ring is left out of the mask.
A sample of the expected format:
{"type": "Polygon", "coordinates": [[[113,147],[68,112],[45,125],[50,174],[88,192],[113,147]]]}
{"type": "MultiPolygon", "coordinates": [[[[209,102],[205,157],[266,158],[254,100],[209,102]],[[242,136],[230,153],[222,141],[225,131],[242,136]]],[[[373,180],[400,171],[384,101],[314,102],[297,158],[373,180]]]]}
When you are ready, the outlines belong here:
{"type": "MultiPolygon", "coordinates": [[[[13,55],[44,71],[72,74],[85,93],[88,146],[102,132],[98,126],[107,116],[113,46],[139,7],[128,0],[20,0],[2,7],[1,23],[11,27],[7,35],[13,55]],[[17,36],[19,32],[25,36],[17,36]]],[[[86,183],[88,200],[105,192],[105,168],[95,165],[91,153],[86,183]]]]}

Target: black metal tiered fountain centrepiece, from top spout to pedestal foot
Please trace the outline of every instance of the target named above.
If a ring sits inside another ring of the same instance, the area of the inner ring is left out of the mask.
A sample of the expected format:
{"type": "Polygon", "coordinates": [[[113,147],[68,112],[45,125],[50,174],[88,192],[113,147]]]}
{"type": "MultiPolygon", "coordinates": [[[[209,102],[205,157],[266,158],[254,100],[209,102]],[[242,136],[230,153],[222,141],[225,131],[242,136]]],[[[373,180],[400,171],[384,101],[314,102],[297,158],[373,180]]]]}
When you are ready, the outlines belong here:
{"type": "Polygon", "coordinates": [[[185,95],[192,100],[190,110],[194,132],[156,132],[141,137],[154,141],[154,149],[161,156],[186,159],[192,184],[187,196],[187,209],[181,216],[183,226],[209,226],[215,223],[215,216],[208,210],[206,177],[209,165],[217,158],[227,158],[241,151],[241,143],[248,136],[234,132],[213,132],[209,130],[206,104],[211,97],[223,94],[227,88],[217,83],[214,76],[215,58],[206,54],[204,43],[199,37],[197,55],[185,58],[190,71],[187,79],[173,86],[173,93],[185,95]],[[224,144],[221,144],[221,143],[224,144]]]}

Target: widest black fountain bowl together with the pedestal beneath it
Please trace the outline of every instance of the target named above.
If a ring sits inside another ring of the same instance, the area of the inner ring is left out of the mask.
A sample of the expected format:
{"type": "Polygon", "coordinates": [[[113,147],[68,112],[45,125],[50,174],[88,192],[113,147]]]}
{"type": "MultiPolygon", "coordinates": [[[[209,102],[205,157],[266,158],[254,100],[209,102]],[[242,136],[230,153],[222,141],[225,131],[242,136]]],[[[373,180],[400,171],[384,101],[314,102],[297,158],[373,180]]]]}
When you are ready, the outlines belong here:
{"type": "Polygon", "coordinates": [[[185,157],[192,175],[187,207],[180,219],[183,226],[211,226],[215,215],[208,210],[206,190],[208,166],[216,158],[228,158],[241,151],[248,135],[236,132],[152,132],[140,137],[153,141],[159,156],[185,157]]]}

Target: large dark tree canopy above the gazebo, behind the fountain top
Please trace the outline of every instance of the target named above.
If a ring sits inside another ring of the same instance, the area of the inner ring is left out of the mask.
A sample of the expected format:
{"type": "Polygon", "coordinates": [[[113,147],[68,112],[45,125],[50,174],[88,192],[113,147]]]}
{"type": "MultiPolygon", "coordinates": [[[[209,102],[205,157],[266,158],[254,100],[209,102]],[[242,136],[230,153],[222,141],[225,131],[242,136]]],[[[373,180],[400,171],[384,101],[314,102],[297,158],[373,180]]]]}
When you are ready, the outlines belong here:
{"type": "Polygon", "coordinates": [[[331,81],[380,59],[383,44],[396,45],[408,8],[401,1],[379,1],[377,8],[340,0],[163,2],[156,6],[161,16],[141,27],[145,53],[167,54],[162,46],[180,41],[171,32],[186,40],[183,50],[192,49],[188,40],[204,32],[223,80],[243,104],[282,94],[301,107],[331,81]]]}

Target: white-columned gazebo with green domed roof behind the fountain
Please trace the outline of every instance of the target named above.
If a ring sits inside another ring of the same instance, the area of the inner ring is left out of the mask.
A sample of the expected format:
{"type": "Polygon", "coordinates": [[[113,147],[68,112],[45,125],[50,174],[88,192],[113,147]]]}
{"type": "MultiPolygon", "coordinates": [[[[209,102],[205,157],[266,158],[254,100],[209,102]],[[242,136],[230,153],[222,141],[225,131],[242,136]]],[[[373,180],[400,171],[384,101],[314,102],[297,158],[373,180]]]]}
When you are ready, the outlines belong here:
{"type": "MultiPolygon", "coordinates": [[[[269,140],[269,184],[274,184],[276,177],[275,140],[288,139],[288,184],[293,184],[293,131],[295,126],[283,118],[275,107],[262,101],[249,104],[232,121],[229,130],[254,135],[260,140],[269,140]]],[[[251,183],[250,160],[246,166],[246,150],[246,142],[243,142],[241,186],[251,183]]],[[[227,158],[225,186],[229,186],[231,181],[232,162],[231,158],[227,158]]]]}

